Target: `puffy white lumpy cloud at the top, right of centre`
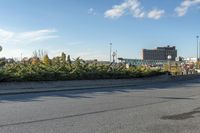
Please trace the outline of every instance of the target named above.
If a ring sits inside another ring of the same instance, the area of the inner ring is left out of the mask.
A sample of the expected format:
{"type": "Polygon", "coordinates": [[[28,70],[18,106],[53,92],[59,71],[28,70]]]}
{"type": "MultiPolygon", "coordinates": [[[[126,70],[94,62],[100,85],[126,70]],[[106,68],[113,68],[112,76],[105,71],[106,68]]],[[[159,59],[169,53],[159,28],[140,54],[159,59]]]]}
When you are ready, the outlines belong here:
{"type": "Polygon", "coordinates": [[[151,18],[159,19],[164,13],[164,10],[154,9],[149,13],[145,12],[139,0],[125,0],[120,5],[115,5],[112,9],[104,13],[106,18],[119,18],[125,13],[130,13],[135,18],[151,18]]]}

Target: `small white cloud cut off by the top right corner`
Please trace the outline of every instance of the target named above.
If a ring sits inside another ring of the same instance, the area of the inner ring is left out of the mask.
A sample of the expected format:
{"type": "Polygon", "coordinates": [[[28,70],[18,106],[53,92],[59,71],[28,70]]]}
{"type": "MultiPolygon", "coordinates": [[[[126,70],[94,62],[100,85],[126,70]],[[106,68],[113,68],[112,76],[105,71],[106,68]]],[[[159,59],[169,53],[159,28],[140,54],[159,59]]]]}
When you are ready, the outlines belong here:
{"type": "Polygon", "coordinates": [[[190,7],[200,4],[200,0],[183,0],[180,6],[176,7],[175,12],[178,16],[184,16],[190,7]]]}

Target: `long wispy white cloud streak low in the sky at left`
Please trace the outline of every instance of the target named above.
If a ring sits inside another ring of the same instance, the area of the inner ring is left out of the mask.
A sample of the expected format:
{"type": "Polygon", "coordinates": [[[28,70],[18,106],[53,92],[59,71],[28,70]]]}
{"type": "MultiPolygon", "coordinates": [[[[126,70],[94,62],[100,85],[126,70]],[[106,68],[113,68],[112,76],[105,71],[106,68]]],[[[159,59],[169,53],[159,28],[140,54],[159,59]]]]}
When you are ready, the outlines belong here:
{"type": "Polygon", "coordinates": [[[56,32],[57,31],[54,29],[42,29],[37,31],[17,33],[0,29],[0,43],[1,45],[6,45],[7,43],[21,44],[42,41],[59,37],[55,35],[56,32]]]}

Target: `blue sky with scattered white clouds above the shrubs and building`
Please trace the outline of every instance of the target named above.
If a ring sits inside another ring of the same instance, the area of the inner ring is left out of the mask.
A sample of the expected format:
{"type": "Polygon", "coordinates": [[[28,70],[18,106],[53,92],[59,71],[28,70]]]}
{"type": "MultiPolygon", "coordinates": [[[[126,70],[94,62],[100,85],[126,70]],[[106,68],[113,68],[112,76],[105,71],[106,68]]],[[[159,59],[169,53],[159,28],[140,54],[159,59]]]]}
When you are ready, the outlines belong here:
{"type": "Polygon", "coordinates": [[[0,0],[0,57],[42,49],[72,58],[141,58],[143,48],[176,46],[196,56],[200,0],[0,0]]]}

